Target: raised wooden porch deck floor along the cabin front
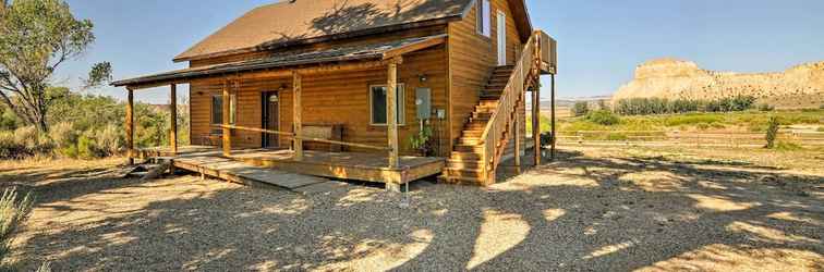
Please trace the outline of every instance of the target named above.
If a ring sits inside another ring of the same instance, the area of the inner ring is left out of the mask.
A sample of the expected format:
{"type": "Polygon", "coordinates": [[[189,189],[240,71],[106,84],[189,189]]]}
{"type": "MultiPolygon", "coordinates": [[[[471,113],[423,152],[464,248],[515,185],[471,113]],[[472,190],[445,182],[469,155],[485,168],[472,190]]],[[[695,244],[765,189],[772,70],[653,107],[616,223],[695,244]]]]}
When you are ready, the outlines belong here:
{"type": "MultiPolygon", "coordinates": [[[[138,149],[136,158],[148,159],[155,157],[171,158],[175,166],[192,170],[191,158],[231,159],[245,164],[270,168],[283,172],[354,180],[375,183],[386,183],[387,186],[399,186],[404,183],[421,180],[441,173],[445,165],[444,158],[432,157],[400,157],[399,168],[389,168],[388,158],[381,153],[360,152],[324,152],[305,150],[303,160],[295,161],[291,150],[283,149],[242,149],[232,150],[232,154],[223,157],[216,147],[185,146],[172,153],[168,148],[138,149]],[[189,163],[189,164],[186,164],[189,163]]],[[[213,175],[214,176],[214,175],[213,175]]]]}

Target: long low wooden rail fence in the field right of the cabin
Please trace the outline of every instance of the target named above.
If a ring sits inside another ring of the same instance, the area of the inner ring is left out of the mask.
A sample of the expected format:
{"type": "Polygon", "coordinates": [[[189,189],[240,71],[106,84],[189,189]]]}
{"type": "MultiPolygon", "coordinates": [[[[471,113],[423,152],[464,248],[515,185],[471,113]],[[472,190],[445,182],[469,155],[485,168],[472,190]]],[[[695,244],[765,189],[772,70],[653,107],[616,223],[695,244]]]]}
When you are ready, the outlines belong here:
{"type": "MultiPolygon", "coordinates": [[[[824,147],[824,132],[779,132],[777,141],[801,147],[824,147]]],[[[580,131],[560,132],[558,145],[581,146],[694,146],[694,147],[763,147],[764,133],[679,132],[679,131],[580,131]]]]}

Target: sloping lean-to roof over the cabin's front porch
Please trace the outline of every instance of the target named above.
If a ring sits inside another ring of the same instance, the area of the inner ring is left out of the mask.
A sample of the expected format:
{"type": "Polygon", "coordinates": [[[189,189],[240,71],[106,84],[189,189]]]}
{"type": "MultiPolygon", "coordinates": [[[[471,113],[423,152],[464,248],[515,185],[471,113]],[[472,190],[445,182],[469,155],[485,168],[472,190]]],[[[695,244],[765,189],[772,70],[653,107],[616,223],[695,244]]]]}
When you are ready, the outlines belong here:
{"type": "Polygon", "coordinates": [[[206,66],[189,67],[144,75],[112,82],[112,86],[159,86],[168,83],[183,83],[196,78],[235,74],[271,69],[288,69],[292,66],[323,64],[331,62],[387,60],[436,45],[446,40],[447,35],[435,35],[376,42],[360,46],[340,47],[327,50],[280,53],[268,58],[249,61],[220,63],[206,66]]]}

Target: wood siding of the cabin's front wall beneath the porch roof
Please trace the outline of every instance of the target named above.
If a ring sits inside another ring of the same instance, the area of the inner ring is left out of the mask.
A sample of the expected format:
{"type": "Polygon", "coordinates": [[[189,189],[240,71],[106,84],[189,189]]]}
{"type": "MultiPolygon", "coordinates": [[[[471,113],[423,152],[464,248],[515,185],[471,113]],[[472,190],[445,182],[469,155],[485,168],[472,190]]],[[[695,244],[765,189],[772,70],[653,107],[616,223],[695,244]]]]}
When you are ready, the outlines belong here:
{"type": "MultiPolygon", "coordinates": [[[[447,65],[446,46],[413,52],[403,57],[403,63],[398,66],[398,81],[404,84],[404,118],[405,124],[399,127],[401,153],[411,153],[409,137],[417,133],[415,121],[415,88],[432,89],[432,106],[434,109],[447,107],[447,65]],[[426,82],[420,81],[420,75],[426,75],[426,82]]],[[[385,85],[386,69],[341,72],[324,75],[303,76],[303,123],[304,124],[342,124],[343,141],[386,146],[386,126],[369,124],[369,89],[371,85],[385,85]]],[[[204,79],[192,83],[192,141],[205,145],[203,135],[210,132],[211,96],[219,94],[223,79],[204,79]]],[[[262,127],[262,92],[282,89],[279,91],[280,129],[292,131],[292,83],[291,77],[258,79],[241,82],[240,88],[232,86],[232,92],[238,95],[237,125],[262,127]]],[[[434,122],[436,135],[443,135],[440,143],[446,143],[445,122],[434,122]]],[[[237,148],[260,147],[262,135],[252,132],[234,132],[232,145],[237,148]]],[[[281,146],[289,147],[290,141],[281,138],[281,146]]],[[[312,145],[307,143],[307,149],[312,145]]],[[[371,151],[350,148],[351,151],[371,151]]],[[[440,154],[449,152],[447,147],[440,149],[440,154]]]]}

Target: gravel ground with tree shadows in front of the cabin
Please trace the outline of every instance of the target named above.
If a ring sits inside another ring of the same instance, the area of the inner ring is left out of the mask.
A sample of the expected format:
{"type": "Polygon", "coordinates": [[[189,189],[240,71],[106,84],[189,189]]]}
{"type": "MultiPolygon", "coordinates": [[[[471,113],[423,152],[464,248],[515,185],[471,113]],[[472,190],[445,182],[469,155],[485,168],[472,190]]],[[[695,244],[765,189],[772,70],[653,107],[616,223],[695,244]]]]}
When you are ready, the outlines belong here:
{"type": "Polygon", "coordinates": [[[488,188],[419,182],[408,208],[364,186],[305,197],[77,174],[105,161],[0,163],[0,182],[38,196],[14,243],[24,270],[824,270],[824,173],[622,149],[561,157],[488,188]]]}

